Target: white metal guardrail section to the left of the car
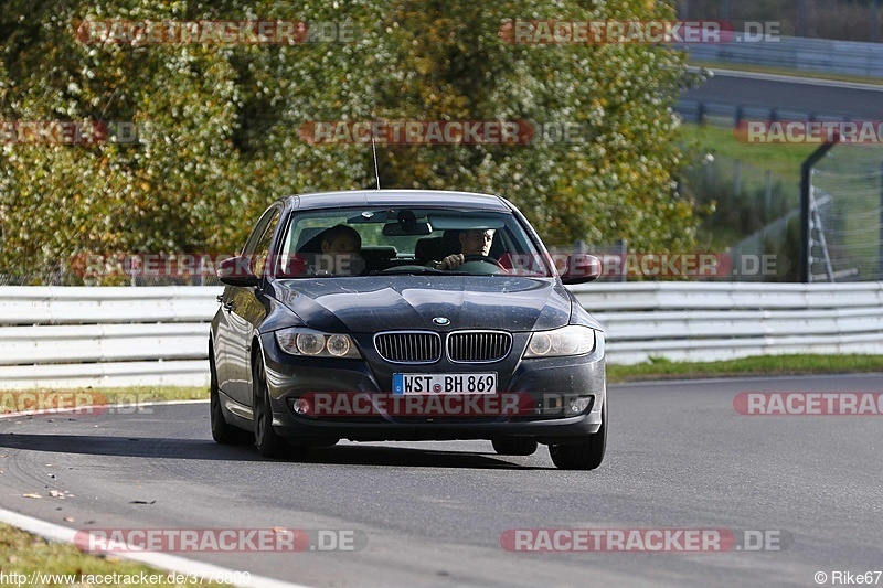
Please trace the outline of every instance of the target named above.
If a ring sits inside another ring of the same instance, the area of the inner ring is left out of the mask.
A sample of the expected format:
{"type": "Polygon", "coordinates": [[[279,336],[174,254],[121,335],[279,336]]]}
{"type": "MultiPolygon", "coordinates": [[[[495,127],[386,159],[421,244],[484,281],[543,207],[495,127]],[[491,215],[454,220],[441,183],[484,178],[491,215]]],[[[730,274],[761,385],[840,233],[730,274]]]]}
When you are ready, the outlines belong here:
{"type": "Polygon", "coordinates": [[[0,389],[201,386],[221,287],[0,288],[0,389]]]}

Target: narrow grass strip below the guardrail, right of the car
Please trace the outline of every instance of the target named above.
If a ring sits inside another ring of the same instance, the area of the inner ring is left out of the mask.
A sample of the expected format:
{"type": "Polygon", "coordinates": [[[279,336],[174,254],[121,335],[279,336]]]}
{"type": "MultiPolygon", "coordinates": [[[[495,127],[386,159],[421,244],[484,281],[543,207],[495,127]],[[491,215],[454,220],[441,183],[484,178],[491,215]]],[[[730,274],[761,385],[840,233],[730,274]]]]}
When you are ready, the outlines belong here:
{"type": "Polygon", "coordinates": [[[637,365],[607,365],[607,379],[639,382],[726,376],[781,376],[883,372],[883,355],[760,355],[722,362],[670,362],[656,359],[637,365]]]}

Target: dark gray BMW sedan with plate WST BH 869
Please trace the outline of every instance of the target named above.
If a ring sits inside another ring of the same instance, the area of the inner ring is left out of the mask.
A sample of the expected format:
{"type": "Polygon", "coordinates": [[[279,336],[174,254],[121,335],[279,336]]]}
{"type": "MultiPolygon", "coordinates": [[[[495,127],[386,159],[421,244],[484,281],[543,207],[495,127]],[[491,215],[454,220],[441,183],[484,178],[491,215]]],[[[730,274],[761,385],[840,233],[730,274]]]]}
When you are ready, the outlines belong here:
{"type": "Polygon", "coordinates": [[[564,288],[597,258],[554,258],[507,200],[380,190],[289,196],[260,216],[209,341],[212,436],[302,458],[340,439],[605,452],[600,325],[564,288]]]}

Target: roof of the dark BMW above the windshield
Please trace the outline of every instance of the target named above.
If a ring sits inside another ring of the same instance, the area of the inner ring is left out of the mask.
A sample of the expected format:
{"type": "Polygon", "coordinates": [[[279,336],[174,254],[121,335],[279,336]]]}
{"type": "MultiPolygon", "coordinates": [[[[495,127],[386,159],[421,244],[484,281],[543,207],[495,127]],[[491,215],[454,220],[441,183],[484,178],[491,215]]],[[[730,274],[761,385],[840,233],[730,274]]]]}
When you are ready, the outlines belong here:
{"type": "Polygon", "coordinates": [[[454,206],[485,211],[510,212],[500,196],[446,190],[350,190],[313,192],[288,196],[286,203],[296,210],[338,206],[454,206]]]}

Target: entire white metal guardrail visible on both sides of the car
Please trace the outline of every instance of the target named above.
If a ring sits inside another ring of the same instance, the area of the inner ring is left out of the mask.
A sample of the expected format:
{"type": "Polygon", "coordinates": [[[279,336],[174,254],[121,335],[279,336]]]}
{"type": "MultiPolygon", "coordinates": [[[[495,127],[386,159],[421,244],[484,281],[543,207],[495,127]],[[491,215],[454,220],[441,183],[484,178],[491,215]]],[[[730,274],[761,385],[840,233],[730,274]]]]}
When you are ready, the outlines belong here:
{"type": "MultiPolygon", "coordinates": [[[[0,389],[208,384],[220,287],[0,288],[0,389]]],[[[610,363],[883,353],[883,282],[572,287],[610,363]]]]}

